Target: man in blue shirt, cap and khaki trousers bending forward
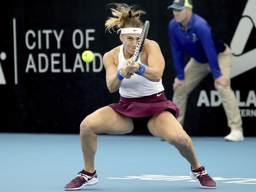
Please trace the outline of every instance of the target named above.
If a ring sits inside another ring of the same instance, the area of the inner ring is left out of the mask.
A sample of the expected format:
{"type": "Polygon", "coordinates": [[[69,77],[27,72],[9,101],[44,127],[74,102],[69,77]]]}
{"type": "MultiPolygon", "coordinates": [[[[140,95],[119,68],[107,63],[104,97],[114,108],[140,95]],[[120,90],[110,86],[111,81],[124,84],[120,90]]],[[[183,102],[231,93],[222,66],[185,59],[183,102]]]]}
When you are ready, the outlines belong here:
{"type": "Polygon", "coordinates": [[[241,115],[234,92],[230,88],[230,48],[213,35],[204,18],[192,12],[191,0],[174,0],[169,8],[173,9],[174,15],[169,22],[169,39],[177,74],[173,83],[173,102],[180,108],[178,121],[184,123],[188,94],[202,79],[212,73],[214,86],[221,96],[231,130],[224,139],[244,140],[241,115]],[[184,52],[191,56],[185,68],[184,52]]]}

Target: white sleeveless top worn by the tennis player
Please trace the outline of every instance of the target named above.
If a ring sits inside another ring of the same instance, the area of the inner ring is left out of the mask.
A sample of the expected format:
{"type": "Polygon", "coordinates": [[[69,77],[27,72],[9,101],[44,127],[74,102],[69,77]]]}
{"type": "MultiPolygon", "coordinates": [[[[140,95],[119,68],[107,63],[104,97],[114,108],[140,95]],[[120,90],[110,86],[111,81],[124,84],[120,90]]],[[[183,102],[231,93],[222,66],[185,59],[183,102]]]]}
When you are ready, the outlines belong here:
{"type": "MultiPolygon", "coordinates": [[[[118,62],[117,70],[125,66],[126,62],[129,60],[129,59],[126,60],[124,58],[123,45],[120,46],[118,59],[119,59],[118,60],[119,62],[118,62]]],[[[140,58],[137,62],[141,63],[140,58]]],[[[148,67],[147,65],[144,65],[144,66],[146,68],[148,67]]],[[[134,74],[130,79],[124,78],[122,80],[121,87],[119,88],[119,93],[122,97],[125,97],[125,98],[138,98],[138,97],[149,96],[149,95],[161,92],[163,90],[164,88],[162,85],[162,79],[160,79],[159,82],[153,82],[153,81],[149,81],[143,76],[134,74]]]]}

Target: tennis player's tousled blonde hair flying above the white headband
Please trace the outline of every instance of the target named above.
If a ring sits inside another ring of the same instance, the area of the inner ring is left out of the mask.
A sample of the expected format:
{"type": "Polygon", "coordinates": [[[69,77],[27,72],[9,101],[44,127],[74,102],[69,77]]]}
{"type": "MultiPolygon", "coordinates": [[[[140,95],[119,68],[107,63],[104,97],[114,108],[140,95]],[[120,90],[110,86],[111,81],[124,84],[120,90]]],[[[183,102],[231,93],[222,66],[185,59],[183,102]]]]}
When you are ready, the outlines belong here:
{"type": "Polygon", "coordinates": [[[128,6],[127,4],[108,4],[108,6],[115,6],[111,8],[111,13],[114,17],[109,17],[105,22],[106,31],[111,33],[111,30],[115,31],[118,28],[117,33],[122,28],[142,28],[143,22],[140,20],[140,16],[146,14],[145,11],[135,10],[137,6],[128,6]]]}

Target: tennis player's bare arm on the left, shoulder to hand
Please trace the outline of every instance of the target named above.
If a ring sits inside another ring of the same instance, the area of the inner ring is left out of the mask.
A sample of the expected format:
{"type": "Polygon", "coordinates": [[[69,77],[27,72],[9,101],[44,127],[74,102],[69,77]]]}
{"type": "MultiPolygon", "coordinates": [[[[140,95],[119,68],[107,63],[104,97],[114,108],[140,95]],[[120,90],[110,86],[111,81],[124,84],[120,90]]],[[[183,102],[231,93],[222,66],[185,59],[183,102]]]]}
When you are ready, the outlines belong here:
{"type": "MultiPolygon", "coordinates": [[[[122,83],[122,80],[117,79],[117,66],[115,65],[113,50],[107,52],[103,56],[103,65],[106,69],[106,83],[109,92],[116,92],[122,83]]],[[[120,74],[124,78],[130,78],[131,74],[124,69],[121,69],[120,74]]]]}

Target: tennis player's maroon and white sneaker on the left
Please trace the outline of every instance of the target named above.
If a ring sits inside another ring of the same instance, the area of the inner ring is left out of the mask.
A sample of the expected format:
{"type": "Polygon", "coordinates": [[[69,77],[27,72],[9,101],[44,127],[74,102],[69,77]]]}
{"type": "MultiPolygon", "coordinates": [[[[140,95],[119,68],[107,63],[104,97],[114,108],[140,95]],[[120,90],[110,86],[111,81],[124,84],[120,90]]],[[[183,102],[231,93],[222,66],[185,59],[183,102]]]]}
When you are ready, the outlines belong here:
{"type": "Polygon", "coordinates": [[[95,185],[98,183],[96,170],[93,173],[87,172],[84,169],[80,171],[76,178],[74,178],[70,183],[68,183],[64,189],[65,190],[78,190],[85,185],[95,185]]]}

